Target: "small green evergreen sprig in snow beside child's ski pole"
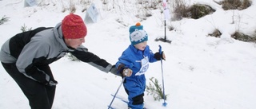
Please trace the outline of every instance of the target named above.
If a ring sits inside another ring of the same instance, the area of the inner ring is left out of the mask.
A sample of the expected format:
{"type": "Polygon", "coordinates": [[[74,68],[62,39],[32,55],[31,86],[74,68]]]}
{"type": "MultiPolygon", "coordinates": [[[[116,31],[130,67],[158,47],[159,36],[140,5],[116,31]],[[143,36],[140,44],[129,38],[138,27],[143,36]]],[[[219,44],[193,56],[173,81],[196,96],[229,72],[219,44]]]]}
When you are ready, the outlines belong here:
{"type": "Polygon", "coordinates": [[[166,99],[167,95],[165,95],[165,97],[163,96],[162,87],[158,84],[158,80],[151,77],[150,81],[153,84],[150,83],[149,86],[146,86],[146,91],[148,92],[147,95],[153,95],[154,100],[166,99]]]}

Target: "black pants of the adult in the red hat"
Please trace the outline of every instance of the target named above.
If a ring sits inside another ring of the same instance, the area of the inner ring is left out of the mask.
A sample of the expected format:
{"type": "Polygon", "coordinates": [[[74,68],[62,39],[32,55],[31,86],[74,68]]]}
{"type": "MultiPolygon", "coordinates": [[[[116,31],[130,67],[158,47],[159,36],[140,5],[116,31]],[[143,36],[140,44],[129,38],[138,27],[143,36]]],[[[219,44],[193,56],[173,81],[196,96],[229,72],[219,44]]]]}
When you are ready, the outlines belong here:
{"type": "MultiPolygon", "coordinates": [[[[18,71],[15,63],[2,63],[2,66],[15,80],[19,88],[22,89],[24,95],[26,95],[26,98],[29,99],[31,109],[50,109],[52,107],[54,103],[56,86],[46,86],[38,83],[38,81],[26,77],[18,71]]],[[[53,78],[52,72],[48,65],[39,66],[38,68],[44,72],[47,72],[47,74],[53,78]]]]}

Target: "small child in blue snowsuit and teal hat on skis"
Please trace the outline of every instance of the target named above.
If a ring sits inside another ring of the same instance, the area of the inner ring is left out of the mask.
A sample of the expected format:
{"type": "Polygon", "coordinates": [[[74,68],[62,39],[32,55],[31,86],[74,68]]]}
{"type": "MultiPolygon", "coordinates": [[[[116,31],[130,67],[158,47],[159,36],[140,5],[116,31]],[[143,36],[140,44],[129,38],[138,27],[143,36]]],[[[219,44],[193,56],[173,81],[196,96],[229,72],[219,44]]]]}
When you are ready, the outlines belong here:
{"type": "Polygon", "coordinates": [[[122,77],[126,76],[123,85],[128,95],[128,109],[142,109],[146,88],[145,72],[149,63],[166,59],[165,54],[152,53],[147,45],[148,35],[139,22],[130,27],[131,45],[118,58],[116,68],[122,77]]]}

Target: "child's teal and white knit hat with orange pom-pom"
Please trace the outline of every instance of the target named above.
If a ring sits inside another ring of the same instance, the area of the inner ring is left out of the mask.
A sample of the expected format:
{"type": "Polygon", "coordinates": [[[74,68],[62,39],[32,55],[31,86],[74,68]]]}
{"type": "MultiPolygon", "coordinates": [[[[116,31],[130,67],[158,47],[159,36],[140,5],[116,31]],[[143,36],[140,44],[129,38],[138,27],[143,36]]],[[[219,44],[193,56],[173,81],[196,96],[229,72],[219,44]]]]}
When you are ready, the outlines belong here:
{"type": "Polygon", "coordinates": [[[143,41],[148,40],[148,36],[146,31],[143,29],[143,25],[141,23],[136,23],[136,25],[130,26],[130,42],[132,45],[137,45],[143,41]]]}

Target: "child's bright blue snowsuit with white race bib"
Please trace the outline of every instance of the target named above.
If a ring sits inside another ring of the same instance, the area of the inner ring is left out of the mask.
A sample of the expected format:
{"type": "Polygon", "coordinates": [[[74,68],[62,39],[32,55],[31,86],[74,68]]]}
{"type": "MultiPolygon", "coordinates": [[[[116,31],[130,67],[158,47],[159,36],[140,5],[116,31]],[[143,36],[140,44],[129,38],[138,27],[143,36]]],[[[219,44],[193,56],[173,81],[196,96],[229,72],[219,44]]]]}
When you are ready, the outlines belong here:
{"type": "Polygon", "coordinates": [[[122,53],[122,56],[118,58],[118,62],[116,63],[117,68],[120,64],[124,64],[126,68],[130,68],[133,71],[130,77],[126,77],[126,83],[124,86],[130,91],[134,88],[134,91],[137,90],[137,94],[142,94],[146,88],[146,78],[144,73],[149,68],[148,64],[155,61],[157,60],[154,58],[154,53],[152,53],[148,45],[146,45],[146,49],[144,51],[136,49],[134,45],[130,45],[122,53]],[[148,59],[144,66],[142,65],[143,58],[148,59]],[[138,88],[141,88],[142,90],[138,91],[138,88]]]}

